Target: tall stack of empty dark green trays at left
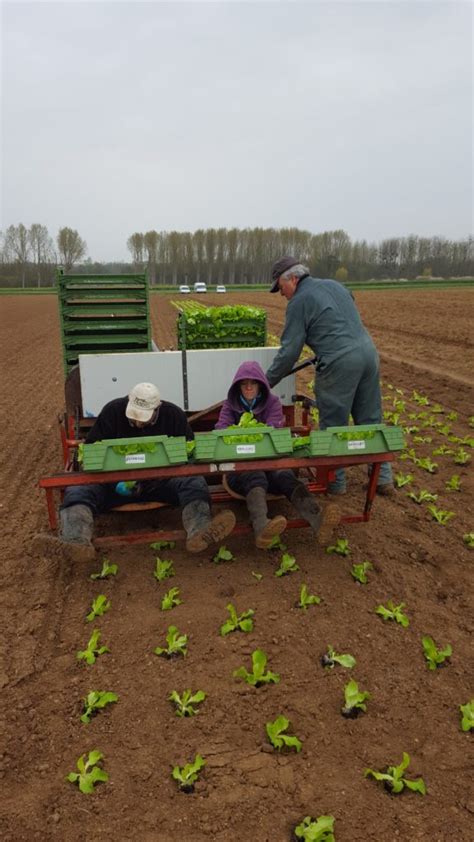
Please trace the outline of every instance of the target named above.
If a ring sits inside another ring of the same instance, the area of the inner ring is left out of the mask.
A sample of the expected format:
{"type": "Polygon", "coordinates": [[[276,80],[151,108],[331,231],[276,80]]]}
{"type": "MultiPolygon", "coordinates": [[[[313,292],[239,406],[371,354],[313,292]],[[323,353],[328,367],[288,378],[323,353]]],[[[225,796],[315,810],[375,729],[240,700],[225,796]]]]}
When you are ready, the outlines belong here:
{"type": "Polygon", "coordinates": [[[57,275],[64,370],[79,354],[151,351],[148,284],[140,275],[57,275]]]}

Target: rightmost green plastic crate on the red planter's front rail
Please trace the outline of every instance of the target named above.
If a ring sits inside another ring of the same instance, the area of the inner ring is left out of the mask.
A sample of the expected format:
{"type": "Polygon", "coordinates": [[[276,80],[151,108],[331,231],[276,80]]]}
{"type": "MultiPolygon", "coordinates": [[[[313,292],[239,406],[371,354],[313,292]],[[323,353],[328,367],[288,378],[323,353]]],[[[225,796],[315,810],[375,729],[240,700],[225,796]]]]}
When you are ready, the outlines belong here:
{"type": "Polygon", "coordinates": [[[354,456],[364,453],[388,453],[403,450],[405,440],[400,427],[364,424],[352,427],[328,427],[310,433],[310,456],[354,456]]]}

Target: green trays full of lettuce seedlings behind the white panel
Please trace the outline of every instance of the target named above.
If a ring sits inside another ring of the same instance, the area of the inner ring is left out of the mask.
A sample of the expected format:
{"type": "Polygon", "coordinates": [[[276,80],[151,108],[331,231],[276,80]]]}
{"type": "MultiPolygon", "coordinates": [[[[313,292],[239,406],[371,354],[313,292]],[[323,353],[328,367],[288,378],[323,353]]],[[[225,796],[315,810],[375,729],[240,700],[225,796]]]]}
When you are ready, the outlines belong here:
{"type": "Polygon", "coordinates": [[[180,313],[177,329],[180,351],[261,348],[267,342],[267,314],[258,307],[242,305],[189,307],[180,313]]]}

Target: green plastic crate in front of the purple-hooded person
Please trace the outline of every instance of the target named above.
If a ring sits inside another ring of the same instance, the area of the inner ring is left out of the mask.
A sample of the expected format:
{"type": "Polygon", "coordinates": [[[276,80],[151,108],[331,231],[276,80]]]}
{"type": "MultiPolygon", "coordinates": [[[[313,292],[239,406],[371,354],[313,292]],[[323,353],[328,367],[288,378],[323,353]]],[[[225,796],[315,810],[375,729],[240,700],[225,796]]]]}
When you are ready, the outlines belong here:
{"type": "Polygon", "coordinates": [[[210,433],[196,433],[196,447],[194,459],[196,462],[235,462],[243,459],[271,459],[278,456],[288,456],[292,450],[291,430],[283,427],[275,430],[273,427],[242,428],[239,432],[230,433],[229,430],[212,430],[210,433]],[[224,438],[235,435],[241,438],[245,435],[262,435],[261,441],[233,442],[226,444],[224,438]]]}

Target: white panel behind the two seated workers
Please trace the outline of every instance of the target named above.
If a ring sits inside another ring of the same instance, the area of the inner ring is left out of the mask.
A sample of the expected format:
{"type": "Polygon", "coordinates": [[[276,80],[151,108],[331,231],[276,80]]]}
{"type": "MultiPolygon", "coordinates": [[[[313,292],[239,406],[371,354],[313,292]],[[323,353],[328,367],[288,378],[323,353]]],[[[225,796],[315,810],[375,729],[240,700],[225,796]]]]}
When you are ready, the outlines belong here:
{"type": "MultiPolygon", "coordinates": [[[[259,362],[266,371],[278,348],[219,348],[187,351],[188,408],[192,412],[224,400],[239,365],[259,362]]],[[[82,405],[86,417],[96,417],[114,398],[128,394],[136,383],[155,383],[164,400],[184,409],[181,351],[129,354],[81,354],[82,405]]],[[[285,406],[296,390],[295,375],[285,377],[272,391],[285,406]]]]}

